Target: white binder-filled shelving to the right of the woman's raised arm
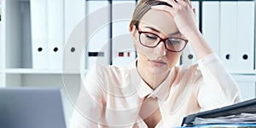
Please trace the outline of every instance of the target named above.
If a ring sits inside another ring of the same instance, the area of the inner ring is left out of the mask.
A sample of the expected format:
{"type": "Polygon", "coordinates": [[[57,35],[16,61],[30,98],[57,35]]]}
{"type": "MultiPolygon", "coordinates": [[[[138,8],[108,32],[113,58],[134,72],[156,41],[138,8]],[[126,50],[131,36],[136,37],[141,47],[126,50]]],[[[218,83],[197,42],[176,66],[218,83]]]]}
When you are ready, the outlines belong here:
{"type": "Polygon", "coordinates": [[[255,97],[255,1],[201,1],[202,33],[244,100],[255,97]]]}

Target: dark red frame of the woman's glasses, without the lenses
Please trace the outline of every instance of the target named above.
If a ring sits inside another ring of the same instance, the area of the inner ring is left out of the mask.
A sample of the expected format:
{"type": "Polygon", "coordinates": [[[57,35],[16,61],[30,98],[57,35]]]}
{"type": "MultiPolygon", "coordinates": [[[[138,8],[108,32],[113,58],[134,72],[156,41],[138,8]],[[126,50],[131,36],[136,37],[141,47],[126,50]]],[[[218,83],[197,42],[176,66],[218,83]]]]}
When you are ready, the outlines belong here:
{"type": "MultiPolygon", "coordinates": [[[[140,44],[142,44],[143,46],[148,47],[148,48],[155,48],[158,44],[160,44],[160,42],[163,42],[163,43],[165,44],[165,47],[166,47],[166,40],[169,39],[169,38],[160,38],[157,34],[154,34],[154,33],[152,33],[152,32],[144,32],[144,31],[141,31],[141,30],[139,30],[139,29],[137,29],[137,32],[139,33],[139,41],[140,41],[140,44]],[[158,42],[157,44],[155,44],[154,46],[145,45],[145,44],[143,44],[142,41],[141,41],[141,34],[142,34],[142,33],[152,34],[152,35],[156,36],[157,38],[160,38],[160,40],[159,40],[159,42],[158,42]]],[[[183,46],[183,49],[185,49],[185,47],[186,47],[186,45],[188,44],[189,40],[183,39],[183,38],[177,38],[177,39],[181,39],[181,40],[183,40],[183,41],[185,42],[185,44],[184,44],[184,46],[183,46]]],[[[167,49],[167,47],[166,47],[166,49],[167,49]]],[[[180,49],[180,50],[167,49],[167,50],[169,50],[169,51],[171,51],[171,52],[181,52],[181,51],[183,51],[183,49],[180,49]]]]}

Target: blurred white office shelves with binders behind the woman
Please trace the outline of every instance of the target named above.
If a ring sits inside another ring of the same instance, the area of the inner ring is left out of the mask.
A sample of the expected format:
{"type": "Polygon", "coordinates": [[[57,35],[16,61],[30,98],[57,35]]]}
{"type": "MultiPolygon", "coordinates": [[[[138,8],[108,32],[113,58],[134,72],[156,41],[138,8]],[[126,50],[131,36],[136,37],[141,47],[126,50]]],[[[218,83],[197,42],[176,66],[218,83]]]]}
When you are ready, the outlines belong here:
{"type": "MultiPolygon", "coordinates": [[[[0,0],[0,87],[60,87],[66,119],[82,78],[96,63],[136,58],[129,33],[137,0],[0,0]]],[[[255,1],[192,1],[198,28],[239,84],[255,98],[255,1]]],[[[187,45],[177,65],[196,63],[187,45]]],[[[68,121],[67,121],[68,123],[68,121]]]]}

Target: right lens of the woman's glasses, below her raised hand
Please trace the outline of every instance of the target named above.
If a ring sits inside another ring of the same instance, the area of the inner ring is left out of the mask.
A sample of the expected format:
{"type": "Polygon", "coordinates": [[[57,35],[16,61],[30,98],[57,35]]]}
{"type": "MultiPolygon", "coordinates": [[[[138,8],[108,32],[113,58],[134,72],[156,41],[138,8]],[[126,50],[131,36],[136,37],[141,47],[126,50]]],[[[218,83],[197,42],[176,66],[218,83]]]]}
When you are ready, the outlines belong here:
{"type": "Polygon", "coordinates": [[[181,38],[168,38],[166,39],[166,48],[172,51],[180,51],[186,45],[186,42],[181,38]]]}

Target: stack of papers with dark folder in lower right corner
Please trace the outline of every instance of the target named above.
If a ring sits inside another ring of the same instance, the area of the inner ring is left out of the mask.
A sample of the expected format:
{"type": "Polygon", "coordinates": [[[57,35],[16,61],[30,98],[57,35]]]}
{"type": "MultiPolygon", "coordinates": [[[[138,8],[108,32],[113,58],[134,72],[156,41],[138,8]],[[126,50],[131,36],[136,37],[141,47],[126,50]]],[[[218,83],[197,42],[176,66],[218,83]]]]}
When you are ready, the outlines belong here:
{"type": "Polygon", "coordinates": [[[191,114],[183,119],[182,127],[256,127],[256,99],[191,114]]]}

